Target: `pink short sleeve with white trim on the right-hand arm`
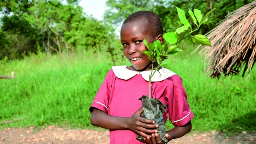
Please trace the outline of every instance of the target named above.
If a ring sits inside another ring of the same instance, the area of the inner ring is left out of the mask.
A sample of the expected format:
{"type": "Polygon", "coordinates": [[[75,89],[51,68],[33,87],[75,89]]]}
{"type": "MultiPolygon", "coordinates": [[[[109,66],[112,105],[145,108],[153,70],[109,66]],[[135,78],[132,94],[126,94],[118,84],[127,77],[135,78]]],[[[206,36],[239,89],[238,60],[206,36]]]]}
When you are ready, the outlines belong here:
{"type": "Polygon", "coordinates": [[[173,125],[182,126],[187,124],[194,114],[190,110],[187,102],[187,93],[182,85],[182,79],[178,75],[173,75],[173,89],[168,97],[169,119],[173,125]]]}

